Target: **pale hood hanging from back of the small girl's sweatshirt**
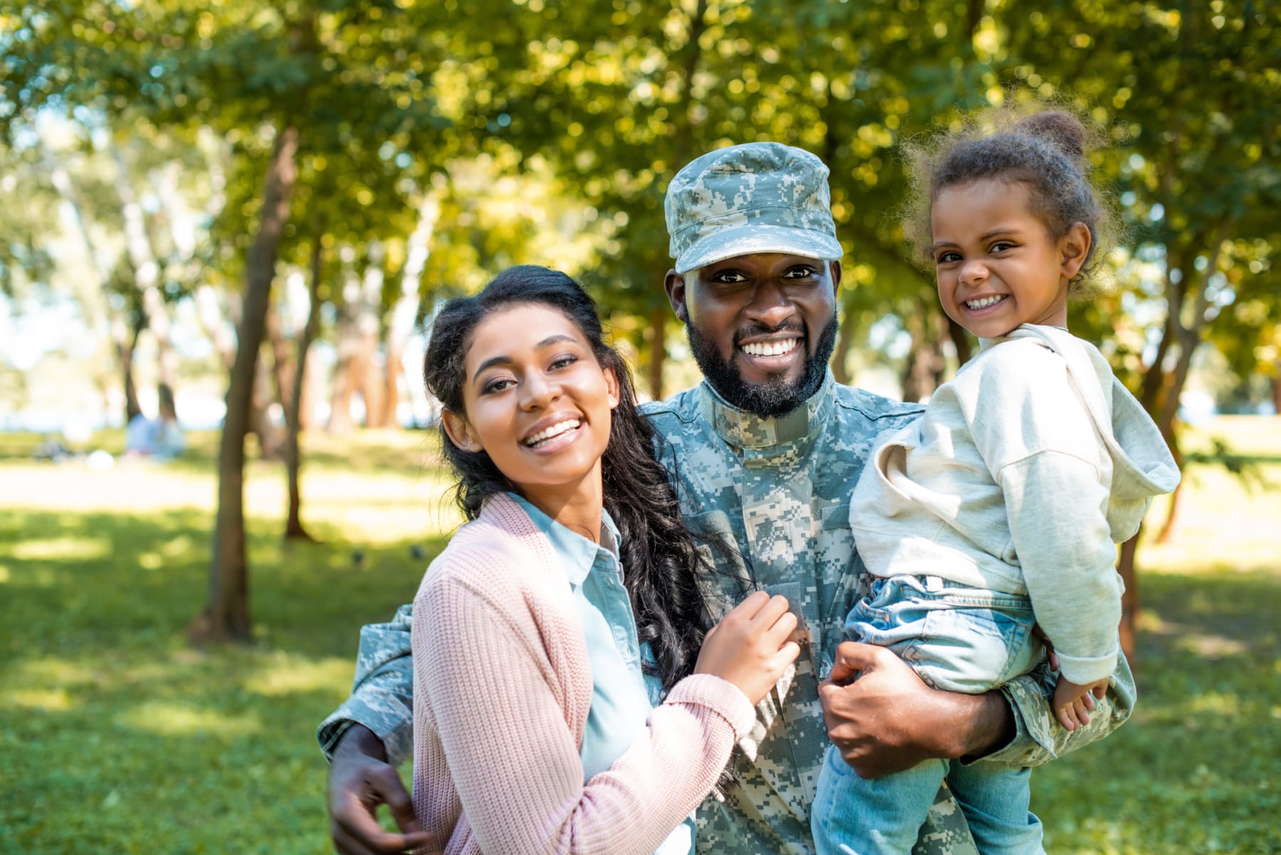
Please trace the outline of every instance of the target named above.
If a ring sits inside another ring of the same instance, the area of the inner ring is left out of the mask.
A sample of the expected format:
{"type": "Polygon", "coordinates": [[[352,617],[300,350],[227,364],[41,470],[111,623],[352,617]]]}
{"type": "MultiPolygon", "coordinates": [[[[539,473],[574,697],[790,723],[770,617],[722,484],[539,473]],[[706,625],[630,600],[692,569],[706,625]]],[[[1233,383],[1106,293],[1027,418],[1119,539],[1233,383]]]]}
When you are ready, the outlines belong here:
{"type": "Polygon", "coordinates": [[[1007,337],[1038,338],[1067,361],[1068,376],[1112,458],[1107,511],[1112,540],[1130,540],[1153,497],[1179,486],[1179,467],[1161,431],[1094,345],[1066,329],[1034,324],[1024,324],[1007,337]]]}

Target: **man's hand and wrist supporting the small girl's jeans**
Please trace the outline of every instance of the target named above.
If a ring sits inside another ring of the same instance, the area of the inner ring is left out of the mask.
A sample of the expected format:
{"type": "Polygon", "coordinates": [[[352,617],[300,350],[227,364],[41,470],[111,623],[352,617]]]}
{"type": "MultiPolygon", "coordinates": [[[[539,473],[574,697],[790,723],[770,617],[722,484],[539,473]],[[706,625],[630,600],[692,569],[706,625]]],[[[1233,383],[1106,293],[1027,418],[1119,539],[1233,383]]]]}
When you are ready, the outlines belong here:
{"type": "Polygon", "coordinates": [[[828,737],[861,778],[931,758],[988,754],[1013,737],[1013,713],[999,692],[930,688],[903,660],[874,645],[843,642],[819,699],[828,737]]]}

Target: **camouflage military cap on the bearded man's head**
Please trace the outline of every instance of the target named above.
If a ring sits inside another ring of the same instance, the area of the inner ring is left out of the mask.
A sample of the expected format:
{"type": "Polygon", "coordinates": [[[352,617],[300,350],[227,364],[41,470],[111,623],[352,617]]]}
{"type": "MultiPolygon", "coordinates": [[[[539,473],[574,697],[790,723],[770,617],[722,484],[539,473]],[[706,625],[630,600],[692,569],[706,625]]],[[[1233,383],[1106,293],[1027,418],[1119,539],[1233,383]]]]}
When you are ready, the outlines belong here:
{"type": "Polygon", "coordinates": [[[671,179],[664,208],[678,273],[752,253],[843,255],[828,167],[803,149],[748,142],[705,154],[671,179]]]}

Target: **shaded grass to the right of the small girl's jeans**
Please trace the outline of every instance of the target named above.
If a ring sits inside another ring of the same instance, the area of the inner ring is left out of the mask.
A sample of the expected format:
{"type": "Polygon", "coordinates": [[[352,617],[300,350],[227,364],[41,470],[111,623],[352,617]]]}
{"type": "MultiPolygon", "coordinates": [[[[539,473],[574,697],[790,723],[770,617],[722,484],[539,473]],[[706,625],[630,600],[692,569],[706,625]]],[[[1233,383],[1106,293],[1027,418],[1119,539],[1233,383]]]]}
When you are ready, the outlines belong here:
{"type": "Polygon", "coordinates": [[[1032,774],[1053,852],[1281,851],[1281,577],[1146,573],[1134,718],[1032,774]]]}

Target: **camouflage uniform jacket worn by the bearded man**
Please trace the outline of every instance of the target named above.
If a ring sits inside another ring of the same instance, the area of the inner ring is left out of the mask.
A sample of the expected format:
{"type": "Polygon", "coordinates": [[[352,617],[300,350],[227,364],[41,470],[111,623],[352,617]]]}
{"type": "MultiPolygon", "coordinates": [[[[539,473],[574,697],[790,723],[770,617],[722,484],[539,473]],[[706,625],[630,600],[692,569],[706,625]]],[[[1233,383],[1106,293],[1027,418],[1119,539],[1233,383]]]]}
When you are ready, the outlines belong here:
{"type": "MultiPolygon", "coordinates": [[[[831,669],[845,613],[870,577],[854,551],[849,496],[877,436],[904,426],[920,406],[838,385],[797,410],[760,418],[726,404],[706,382],[646,406],[665,437],[662,461],[694,531],[728,549],[707,549],[715,572],[701,579],[715,622],[752,590],[783,594],[808,638],[801,658],[757,706],[757,722],[731,759],[737,783],[724,801],[698,809],[698,852],[808,854],[808,811],[828,745],[819,679],[831,669]]],[[[398,761],[411,743],[409,606],[389,624],[361,631],[352,696],[322,723],[330,751],[351,722],[369,727],[398,761]]],[[[1090,724],[1068,733],[1050,714],[1054,677],[1034,672],[1003,687],[1015,713],[1015,740],[985,761],[1034,765],[1106,736],[1131,710],[1134,682],[1122,659],[1090,724]]],[[[918,855],[975,852],[965,819],[940,791],[921,829],[918,855]]]]}

